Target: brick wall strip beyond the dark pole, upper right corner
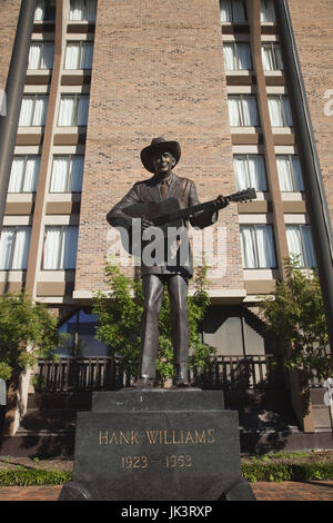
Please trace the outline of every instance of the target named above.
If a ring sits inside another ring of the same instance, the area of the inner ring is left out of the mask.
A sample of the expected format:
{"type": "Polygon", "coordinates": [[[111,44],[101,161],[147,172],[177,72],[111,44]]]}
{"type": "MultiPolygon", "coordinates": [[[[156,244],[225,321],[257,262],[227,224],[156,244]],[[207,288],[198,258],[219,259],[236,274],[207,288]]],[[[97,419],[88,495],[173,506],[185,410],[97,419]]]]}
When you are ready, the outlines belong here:
{"type": "Polygon", "coordinates": [[[289,0],[325,191],[333,219],[333,9],[331,0],[289,0]],[[330,98],[324,98],[331,90],[330,98]]]}

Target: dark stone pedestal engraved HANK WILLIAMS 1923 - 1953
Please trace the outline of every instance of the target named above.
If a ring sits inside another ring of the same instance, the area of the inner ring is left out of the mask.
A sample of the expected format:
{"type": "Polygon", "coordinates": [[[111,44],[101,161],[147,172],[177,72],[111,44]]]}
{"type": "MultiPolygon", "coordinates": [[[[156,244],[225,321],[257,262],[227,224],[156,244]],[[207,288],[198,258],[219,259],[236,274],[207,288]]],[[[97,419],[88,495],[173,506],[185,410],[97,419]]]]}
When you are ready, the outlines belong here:
{"type": "Polygon", "coordinates": [[[239,441],[220,391],[95,393],[78,413],[73,481],[59,500],[255,500],[239,441]]]}

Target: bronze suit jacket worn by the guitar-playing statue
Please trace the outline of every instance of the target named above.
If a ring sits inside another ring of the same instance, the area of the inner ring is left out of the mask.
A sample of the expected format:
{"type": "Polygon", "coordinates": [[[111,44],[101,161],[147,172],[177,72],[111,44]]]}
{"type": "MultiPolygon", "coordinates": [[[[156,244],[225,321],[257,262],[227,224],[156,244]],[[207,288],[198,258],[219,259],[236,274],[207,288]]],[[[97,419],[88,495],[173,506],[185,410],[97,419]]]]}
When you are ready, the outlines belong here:
{"type": "MultiPolygon", "coordinates": [[[[188,179],[176,176],[173,171],[169,179],[169,190],[167,198],[176,198],[181,208],[186,208],[200,204],[195,184],[188,179]]],[[[153,176],[148,180],[138,181],[131,190],[108,213],[107,220],[115,228],[124,228],[131,230],[132,218],[123,213],[123,210],[133,204],[149,204],[161,203],[162,196],[160,190],[160,180],[153,176]]],[[[204,228],[212,225],[218,219],[218,211],[215,209],[208,209],[198,213],[194,217],[190,218],[193,227],[204,228]]],[[[188,223],[184,223],[188,227],[188,223]]],[[[193,274],[193,256],[191,248],[189,248],[189,258],[183,265],[169,267],[167,262],[160,265],[147,266],[141,264],[141,275],[145,274],[183,274],[191,277],[193,274]]]]}

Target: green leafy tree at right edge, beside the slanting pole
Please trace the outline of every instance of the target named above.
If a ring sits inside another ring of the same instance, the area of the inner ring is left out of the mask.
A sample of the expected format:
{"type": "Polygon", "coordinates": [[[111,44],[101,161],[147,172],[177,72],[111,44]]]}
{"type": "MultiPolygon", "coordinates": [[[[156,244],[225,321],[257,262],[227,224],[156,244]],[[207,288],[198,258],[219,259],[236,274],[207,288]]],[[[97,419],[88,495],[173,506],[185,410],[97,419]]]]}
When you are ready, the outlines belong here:
{"type": "Polygon", "coordinates": [[[276,285],[261,310],[275,348],[290,369],[302,371],[304,384],[333,376],[317,270],[302,270],[299,256],[285,259],[286,280],[276,285]]]}

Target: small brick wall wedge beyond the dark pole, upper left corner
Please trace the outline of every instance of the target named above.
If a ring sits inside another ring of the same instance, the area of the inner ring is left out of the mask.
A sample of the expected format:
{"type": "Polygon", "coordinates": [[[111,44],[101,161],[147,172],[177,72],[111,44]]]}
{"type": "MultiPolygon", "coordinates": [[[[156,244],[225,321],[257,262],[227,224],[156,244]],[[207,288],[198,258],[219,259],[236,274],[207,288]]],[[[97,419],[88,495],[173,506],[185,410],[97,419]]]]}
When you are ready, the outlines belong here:
{"type": "Polygon", "coordinates": [[[0,0],[0,89],[4,90],[21,0],[0,0]]]}

